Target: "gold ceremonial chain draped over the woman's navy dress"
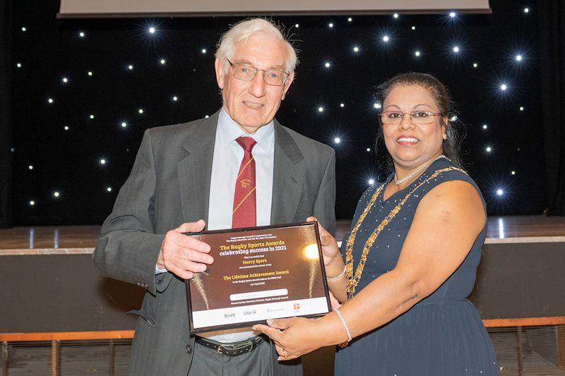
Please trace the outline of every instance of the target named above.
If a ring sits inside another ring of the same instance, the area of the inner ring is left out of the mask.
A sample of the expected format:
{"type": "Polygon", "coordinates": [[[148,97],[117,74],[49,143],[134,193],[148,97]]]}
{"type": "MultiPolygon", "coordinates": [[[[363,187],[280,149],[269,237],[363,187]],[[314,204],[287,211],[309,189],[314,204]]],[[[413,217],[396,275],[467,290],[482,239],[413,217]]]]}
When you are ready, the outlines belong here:
{"type": "Polygon", "coordinates": [[[398,202],[398,205],[396,205],[396,207],[394,207],[393,210],[391,210],[391,212],[389,212],[386,215],[386,217],[384,217],[384,219],[381,221],[379,226],[377,226],[376,229],[374,229],[371,236],[369,236],[369,238],[365,242],[363,246],[363,253],[361,255],[361,260],[359,260],[359,265],[357,265],[357,269],[355,270],[355,276],[354,276],[353,243],[355,243],[355,236],[357,236],[357,231],[359,230],[359,227],[363,223],[365,217],[367,217],[369,210],[371,210],[371,207],[373,207],[374,203],[376,202],[376,199],[383,190],[384,184],[381,185],[376,190],[376,192],[372,195],[371,200],[369,200],[369,203],[367,204],[367,207],[365,207],[362,214],[359,216],[359,219],[357,219],[357,223],[355,224],[355,227],[353,227],[353,229],[351,230],[350,237],[347,239],[347,243],[345,244],[345,277],[347,279],[347,300],[351,299],[355,295],[355,288],[359,284],[359,281],[361,281],[361,277],[363,275],[363,269],[365,267],[365,263],[367,262],[367,255],[369,255],[369,250],[373,246],[376,237],[379,236],[379,234],[381,234],[381,231],[383,231],[386,225],[391,223],[392,219],[396,217],[396,214],[398,214],[398,212],[400,212],[400,209],[402,209],[405,202],[408,201],[408,198],[410,198],[410,196],[412,196],[412,194],[415,193],[415,191],[418,188],[423,186],[425,183],[428,183],[433,178],[436,178],[439,174],[447,171],[460,171],[463,172],[463,174],[467,174],[465,171],[463,171],[462,169],[458,169],[457,167],[446,167],[445,169],[439,169],[435,171],[434,174],[430,175],[424,181],[422,181],[417,186],[415,186],[415,188],[410,190],[410,192],[405,196],[405,198],[403,198],[400,202],[398,202]]]}

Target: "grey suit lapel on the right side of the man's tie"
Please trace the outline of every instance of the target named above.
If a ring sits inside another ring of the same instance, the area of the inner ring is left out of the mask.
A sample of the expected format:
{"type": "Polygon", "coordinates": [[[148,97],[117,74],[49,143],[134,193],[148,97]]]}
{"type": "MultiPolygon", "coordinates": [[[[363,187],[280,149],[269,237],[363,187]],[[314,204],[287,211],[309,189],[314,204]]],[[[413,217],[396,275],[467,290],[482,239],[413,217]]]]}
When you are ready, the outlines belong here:
{"type": "Polygon", "coordinates": [[[284,224],[295,219],[304,179],[299,162],[304,157],[295,140],[276,120],[274,158],[270,224],[284,224]]]}

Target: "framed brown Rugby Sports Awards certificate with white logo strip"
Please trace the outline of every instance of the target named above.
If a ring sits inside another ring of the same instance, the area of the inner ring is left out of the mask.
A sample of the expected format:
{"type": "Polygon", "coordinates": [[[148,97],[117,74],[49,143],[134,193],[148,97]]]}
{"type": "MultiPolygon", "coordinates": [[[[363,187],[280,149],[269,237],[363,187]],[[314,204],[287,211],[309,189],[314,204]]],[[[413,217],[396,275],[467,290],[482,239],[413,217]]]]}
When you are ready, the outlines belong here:
{"type": "Polygon", "coordinates": [[[214,257],[186,280],[191,333],[331,311],[316,222],[187,235],[214,257]]]}

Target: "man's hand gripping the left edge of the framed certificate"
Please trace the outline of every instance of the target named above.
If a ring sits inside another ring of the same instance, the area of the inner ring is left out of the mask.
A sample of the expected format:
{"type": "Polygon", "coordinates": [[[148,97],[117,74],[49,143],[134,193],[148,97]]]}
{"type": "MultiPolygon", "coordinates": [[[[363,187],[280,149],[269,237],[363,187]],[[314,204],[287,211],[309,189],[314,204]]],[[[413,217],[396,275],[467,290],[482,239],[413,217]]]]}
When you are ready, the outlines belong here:
{"type": "Polygon", "coordinates": [[[206,265],[214,262],[213,257],[207,254],[210,252],[210,245],[182,234],[200,232],[205,226],[206,222],[200,219],[198,222],[181,224],[177,229],[167,232],[161,244],[157,267],[167,268],[182,279],[191,279],[194,273],[206,271],[206,265]]]}

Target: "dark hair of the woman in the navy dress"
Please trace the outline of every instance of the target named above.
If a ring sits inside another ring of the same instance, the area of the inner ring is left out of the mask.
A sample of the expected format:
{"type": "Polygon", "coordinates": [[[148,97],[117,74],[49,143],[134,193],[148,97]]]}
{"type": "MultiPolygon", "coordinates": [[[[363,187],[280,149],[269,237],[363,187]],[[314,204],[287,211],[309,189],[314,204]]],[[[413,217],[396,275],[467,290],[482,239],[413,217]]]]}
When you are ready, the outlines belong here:
{"type": "MultiPolygon", "coordinates": [[[[443,116],[447,116],[447,123],[444,124],[446,127],[447,138],[444,140],[442,145],[444,148],[444,155],[451,159],[451,162],[463,168],[463,163],[461,162],[459,154],[460,138],[458,130],[456,129],[457,121],[450,120],[454,115],[456,115],[456,110],[454,108],[455,103],[451,100],[451,95],[445,85],[437,78],[426,73],[415,72],[395,75],[393,78],[389,78],[386,82],[379,85],[379,92],[377,93],[379,103],[384,104],[386,97],[395,87],[408,85],[418,85],[428,90],[430,94],[432,94],[432,97],[434,97],[436,105],[439,107],[439,112],[443,116]]],[[[386,150],[386,145],[384,143],[381,116],[379,116],[379,127],[376,133],[375,152],[379,162],[385,162],[386,169],[388,170],[386,171],[387,174],[393,171],[393,159],[391,154],[388,153],[388,150],[386,150]]]]}

